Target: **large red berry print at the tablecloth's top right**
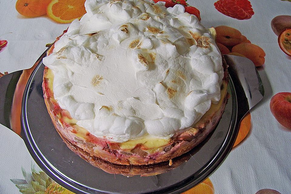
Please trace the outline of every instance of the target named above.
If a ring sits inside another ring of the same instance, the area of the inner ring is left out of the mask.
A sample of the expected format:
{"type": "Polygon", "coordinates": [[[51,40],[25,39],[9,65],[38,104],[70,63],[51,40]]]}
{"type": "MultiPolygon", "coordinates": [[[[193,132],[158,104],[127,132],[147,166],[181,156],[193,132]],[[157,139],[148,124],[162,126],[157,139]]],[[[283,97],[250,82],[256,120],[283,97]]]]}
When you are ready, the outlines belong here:
{"type": "Polygon", "coordinates": [[[255,14],[248,0],[219,0],[214,7],[220,13],[239,20],[249,19],[255,14]]]}

